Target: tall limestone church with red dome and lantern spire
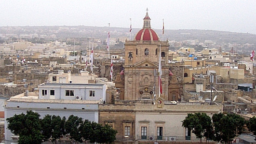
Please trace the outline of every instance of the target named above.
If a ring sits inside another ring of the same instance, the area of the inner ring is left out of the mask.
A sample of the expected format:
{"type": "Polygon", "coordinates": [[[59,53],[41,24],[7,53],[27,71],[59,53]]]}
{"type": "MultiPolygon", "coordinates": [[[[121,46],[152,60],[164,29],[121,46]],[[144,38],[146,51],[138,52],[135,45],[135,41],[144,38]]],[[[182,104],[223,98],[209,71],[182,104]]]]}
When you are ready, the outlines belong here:
{"type": "Polygon", "coordinates": [[[116,78],[115,81],[116,87],[120,90],[120,100],[154,100],[156,94],[159,94],[160,60],[162,65],[161,97],[165,100],[178,100],[178,84],[176,84],[177,90],[173,91],[169,83],[169,42],[160,40],[157,33],[151,29],[150,20],[146,12],[143,28],[137,32],[134,40],[125,41],[124,75],[122,78],[116,78]]]}

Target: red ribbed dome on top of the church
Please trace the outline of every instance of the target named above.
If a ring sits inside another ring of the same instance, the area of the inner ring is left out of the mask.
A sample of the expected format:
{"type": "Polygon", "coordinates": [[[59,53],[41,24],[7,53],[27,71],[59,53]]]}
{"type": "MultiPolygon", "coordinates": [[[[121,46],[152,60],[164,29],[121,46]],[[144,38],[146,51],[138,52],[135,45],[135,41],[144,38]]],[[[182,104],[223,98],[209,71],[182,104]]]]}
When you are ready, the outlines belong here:
{"type": "Polygon", "coordinates": [[[135,40],[159,40],[158,35],[151,28],[141,29],[135,36],[135,40]]]}

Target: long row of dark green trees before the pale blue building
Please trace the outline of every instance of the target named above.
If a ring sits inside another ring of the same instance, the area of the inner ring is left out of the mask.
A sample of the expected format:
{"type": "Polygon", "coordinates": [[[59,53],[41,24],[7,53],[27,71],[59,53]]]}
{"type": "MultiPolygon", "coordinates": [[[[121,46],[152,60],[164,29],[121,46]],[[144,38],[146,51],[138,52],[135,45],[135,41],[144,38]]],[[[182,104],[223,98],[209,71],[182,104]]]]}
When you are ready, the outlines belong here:
{"type": "Polygon", "coordinates": [[[102,126],[96,122],[83,120],[74,115],[65,117],[40,115],[33,111],[27,111],[20,115],[14,115],[7,119],[8,129],[15,135],[19,135],[19,144],[41,144],[43,141],[57,143],[61,137],[66,136],[70,141],[82,143],[112,143],[116,139],[117,131],[110,126],[102,126]]]}

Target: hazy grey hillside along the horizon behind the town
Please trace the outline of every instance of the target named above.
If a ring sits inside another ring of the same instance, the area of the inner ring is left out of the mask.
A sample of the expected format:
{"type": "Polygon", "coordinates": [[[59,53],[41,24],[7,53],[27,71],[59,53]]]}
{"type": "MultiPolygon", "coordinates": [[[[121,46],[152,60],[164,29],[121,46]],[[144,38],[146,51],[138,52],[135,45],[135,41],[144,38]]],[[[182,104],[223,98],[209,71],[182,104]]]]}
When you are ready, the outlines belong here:
{"type": "MultiPolygon", "coordinates": [[[[118,38],[120,36],[129,37],[129,28],[122,27],[97,27],[97,26],[1,26],[0,37],[13,36],[19,38],[20,35],[37,34],[44,35],[49,40],[65,39],[67,37],[94,37],[106,39],[108,31],[110,36],[118,38]],[[55,38],[47,38],[47,36],[55,35],[55,38]]],[[[132,37],[140,28],[132,29],[132,37]]],[[[162,29],[154,29],[162,39],[162,29]]],[[[169,41],[195,40],[204,42],[204,40],[212,40],[216,43],[230,44],[256,44],[256,35],[249,33],[235,33],[216,30],[167,30],[165,29],[164,39],[169,41]]]]}

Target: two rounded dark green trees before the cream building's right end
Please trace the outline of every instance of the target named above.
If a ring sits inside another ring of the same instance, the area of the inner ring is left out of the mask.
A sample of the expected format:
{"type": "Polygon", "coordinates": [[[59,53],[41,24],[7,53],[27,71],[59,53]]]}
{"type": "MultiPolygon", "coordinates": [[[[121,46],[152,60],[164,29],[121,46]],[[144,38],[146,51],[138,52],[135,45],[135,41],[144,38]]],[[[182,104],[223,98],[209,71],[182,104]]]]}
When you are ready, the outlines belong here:
{"type": "Polygon", "coordinates": [[[245,123],[246,121],[237,114],[218,113],[211,119],[205,113],[189,113],[182,121],[182,126],[192,130],[200,140],[205,137],[206,141],[212,139],[216,142],[230,143],[236,134],[242,132],[245,123]]]}

